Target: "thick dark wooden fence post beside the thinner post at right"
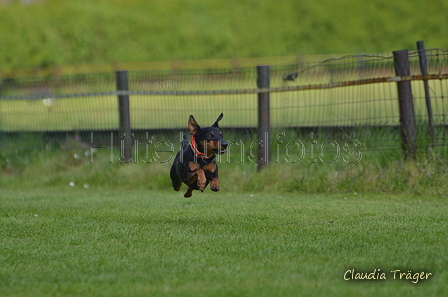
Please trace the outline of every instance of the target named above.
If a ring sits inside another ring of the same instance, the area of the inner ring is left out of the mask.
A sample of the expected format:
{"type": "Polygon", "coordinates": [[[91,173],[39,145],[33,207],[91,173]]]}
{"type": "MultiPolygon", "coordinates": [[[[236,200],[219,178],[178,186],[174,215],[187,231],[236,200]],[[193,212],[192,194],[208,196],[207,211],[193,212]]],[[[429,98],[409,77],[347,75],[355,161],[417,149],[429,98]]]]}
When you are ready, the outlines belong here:
{"type": "MultiPolygon", "coordinates": [[[[411,75],[408,50],[394,51],[393,54],[396,75],[401,77],[411,75]]],[[[417,133],[411,82],[398,81],[397,87],[404,157],[405,159],[414,158],[417,154],[417,133]]]]}

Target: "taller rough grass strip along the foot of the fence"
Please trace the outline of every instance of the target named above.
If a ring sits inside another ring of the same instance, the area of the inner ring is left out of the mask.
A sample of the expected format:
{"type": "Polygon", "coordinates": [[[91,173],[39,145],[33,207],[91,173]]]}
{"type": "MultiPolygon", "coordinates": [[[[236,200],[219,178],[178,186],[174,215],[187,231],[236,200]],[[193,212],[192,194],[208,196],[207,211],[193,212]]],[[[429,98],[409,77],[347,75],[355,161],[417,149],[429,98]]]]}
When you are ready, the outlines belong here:
{"type": "MultiPolygon", "coordinates": [[[[448,196],[446,146],[428,149],[428,143],[422,143],[415,160],[403,161],[400,149],[372,150],[363,140],[359,141],[359,146],[345,144],[356,141],[355,138],[333,139],[331,135],[314,133],[316,145],[311,145],[311,135],[286,131],[285,136],[277,137],[280,134],[271,135],[274,143],[269,166],[257,173],[257,139],[245,133],[227,133],[226,140],[231,145],[227,153],[217,159],[223,188],[236,192],[385,192],[448,196]],[[321,149],[328,141],[331,142],[321,149]]],[[[152,143],[148,147],[144,144],[147,140],[139,138],[143,144],[138,146],[138,154],[134,144],[131,164],[120,162],[120,148],[110,147],[110,140],[105,140],[108,148],[97,149],[90,155],[89,140],[81,142],[69,137],[65,142],[52,143],[37,134],[23,134],[17,139],[5,137],[1,143],[0,187],[53,187],[75,182],[81,186],[128,190],[171,188],[169,169],[179,150],[179,137],[177,133],[150,135],[152,143]],[[172,151],[164,141],[172,143],[172,151]],[[157,146],[157,143],[160,144],[157,146]]],[[[394,141],[399,148],[399,141],[394,141]]]]}

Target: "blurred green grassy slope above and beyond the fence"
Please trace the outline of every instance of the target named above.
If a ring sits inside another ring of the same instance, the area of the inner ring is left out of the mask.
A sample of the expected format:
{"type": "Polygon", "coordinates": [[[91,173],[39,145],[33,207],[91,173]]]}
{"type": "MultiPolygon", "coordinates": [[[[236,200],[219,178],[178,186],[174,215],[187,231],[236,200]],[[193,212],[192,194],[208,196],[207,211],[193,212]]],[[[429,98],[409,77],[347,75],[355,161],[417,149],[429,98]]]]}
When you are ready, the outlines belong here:
{"type": "Polygon", "coordinates": [[[201,60],[224,59],[212,63],[220,68],[244,58],[415,48],[416,40],[446,48],[447,11],[444,0],[0,0],[0,73],[182,60],[202,68],[211,62],[201,60]]]}

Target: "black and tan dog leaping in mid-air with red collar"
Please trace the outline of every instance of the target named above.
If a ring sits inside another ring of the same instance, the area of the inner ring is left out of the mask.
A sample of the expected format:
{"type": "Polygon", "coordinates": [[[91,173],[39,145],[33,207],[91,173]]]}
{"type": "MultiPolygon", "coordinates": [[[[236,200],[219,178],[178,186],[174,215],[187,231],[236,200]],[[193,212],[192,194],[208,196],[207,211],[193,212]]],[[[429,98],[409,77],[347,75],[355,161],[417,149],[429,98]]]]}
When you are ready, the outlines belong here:
{"type": "Polygon", "coordinates": [[[220,189],[216,154],[224,154],[228,146],[218,126],[222,117],[221,113],[215,123],[207,128],[199,127],[192,115],[188,120],[190,144],[184,134],[182,149],[177,153],[170,171],[175,191],[180,190],[182,182],[188,186],[184,194],[186,198],[191,197],[193,190],[203,191],[209,183],[212,191],[220,189]]]}

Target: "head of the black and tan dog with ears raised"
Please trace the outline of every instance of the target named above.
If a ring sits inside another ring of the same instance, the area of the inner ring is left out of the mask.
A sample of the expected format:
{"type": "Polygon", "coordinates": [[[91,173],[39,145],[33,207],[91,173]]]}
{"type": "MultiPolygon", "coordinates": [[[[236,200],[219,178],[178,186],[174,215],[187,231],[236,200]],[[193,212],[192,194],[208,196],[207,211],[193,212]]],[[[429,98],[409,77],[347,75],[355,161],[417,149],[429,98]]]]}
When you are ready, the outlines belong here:
{"type": "Polygon", "coordinates": [[[219,130],[218,122],[222,119],[221,113],[211,127],[201,128],[191,115],[188,120],[188,129],[196,141],[197,150],[206,156],[222,155],[226,152],[228,143],[224,141],[224,134],[219,130]]]}

